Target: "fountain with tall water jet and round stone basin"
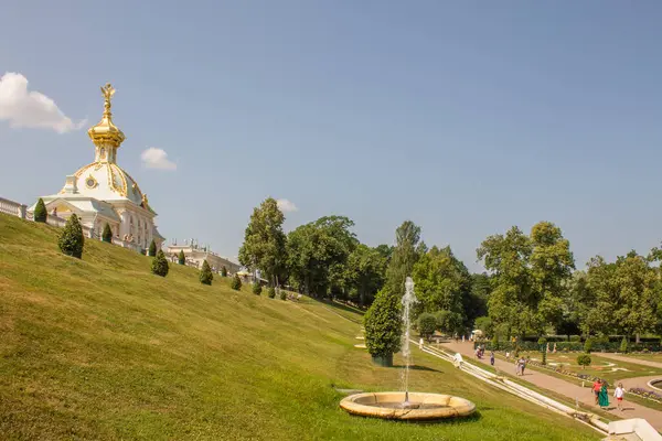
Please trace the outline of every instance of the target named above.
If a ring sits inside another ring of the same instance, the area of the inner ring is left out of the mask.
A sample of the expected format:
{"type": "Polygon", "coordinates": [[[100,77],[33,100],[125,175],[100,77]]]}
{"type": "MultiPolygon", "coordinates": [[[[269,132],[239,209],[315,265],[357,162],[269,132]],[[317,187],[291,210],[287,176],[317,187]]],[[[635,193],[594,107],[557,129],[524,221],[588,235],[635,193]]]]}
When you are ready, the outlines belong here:
{"type": "Polygon", "coordinates": [[[402,303],[404,326],[402,353],[405,362],[402,372],[403,391],[355,394],[340,401],[340,407],[352,415],[412,421],[467,417],[473,413],[476,405],[465,398],[442,394],[409,392],[410,309],[416,303],[414,281],[410,277],[405,281],[405,295],[402,303]]]}

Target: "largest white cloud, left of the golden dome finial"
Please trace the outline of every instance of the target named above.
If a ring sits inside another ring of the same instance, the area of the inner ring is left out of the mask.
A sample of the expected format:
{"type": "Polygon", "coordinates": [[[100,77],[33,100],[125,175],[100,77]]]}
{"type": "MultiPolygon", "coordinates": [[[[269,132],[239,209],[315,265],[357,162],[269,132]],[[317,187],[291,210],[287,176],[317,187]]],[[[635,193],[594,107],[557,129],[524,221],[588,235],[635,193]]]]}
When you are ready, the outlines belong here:
{"type": "Polygon", "coordinates": [[[57,133],[78,130],[85,120],[72,121],[55,101],[42,93],[28,90],[28,78],[8,72],[0,77],[0,121],[9,121],[12,128],[52,129],[57,133]]]}

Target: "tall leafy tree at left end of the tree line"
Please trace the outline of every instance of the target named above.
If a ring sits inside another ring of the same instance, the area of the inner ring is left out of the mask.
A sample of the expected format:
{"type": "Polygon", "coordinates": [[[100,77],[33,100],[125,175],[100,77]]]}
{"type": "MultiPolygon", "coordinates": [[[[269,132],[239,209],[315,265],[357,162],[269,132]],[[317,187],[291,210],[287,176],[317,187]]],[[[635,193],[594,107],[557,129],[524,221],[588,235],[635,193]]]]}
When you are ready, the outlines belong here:
{"type": "Polygon", "coordinates": [[[276,200],[267,197],[253,209],[239,249],[239,262],[252,270],[259,269],[269,283],[286,265],[284,222],[285,216],[276,200]]]}

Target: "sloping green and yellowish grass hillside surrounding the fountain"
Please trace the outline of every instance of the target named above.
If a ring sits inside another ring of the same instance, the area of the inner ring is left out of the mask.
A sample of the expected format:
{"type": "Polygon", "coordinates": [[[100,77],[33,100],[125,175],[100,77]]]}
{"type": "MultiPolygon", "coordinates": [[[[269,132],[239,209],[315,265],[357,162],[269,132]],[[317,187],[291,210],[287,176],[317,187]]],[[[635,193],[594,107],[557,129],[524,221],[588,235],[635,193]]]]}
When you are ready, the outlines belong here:
{"type": "Polygon", "coordinates": [[[171,266],[0,214],[2,439],[597,440],[567,418],[415,352],[413,390],[473,400],[477,418],[435,424],[345,415],[337,387],[399,388],[353,347],[360,316],[303,299],[212,287],[171,266]]]}

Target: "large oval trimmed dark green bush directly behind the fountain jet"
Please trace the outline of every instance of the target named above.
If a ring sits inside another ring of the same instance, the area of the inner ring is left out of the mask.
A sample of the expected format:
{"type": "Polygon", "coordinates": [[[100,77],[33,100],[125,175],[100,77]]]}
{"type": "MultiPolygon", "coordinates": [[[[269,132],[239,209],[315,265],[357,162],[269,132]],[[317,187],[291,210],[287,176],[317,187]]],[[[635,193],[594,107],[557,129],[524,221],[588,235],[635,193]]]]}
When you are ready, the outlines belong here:
{"type": "Polygon", "coordinates": [[[363,316],[365,346],[375,362],[393,365],[393,354],[401,348],[402,318],[397,295],[382,290],[363,316]]]}

